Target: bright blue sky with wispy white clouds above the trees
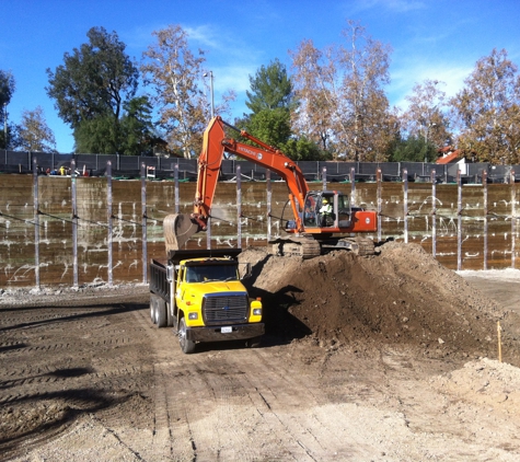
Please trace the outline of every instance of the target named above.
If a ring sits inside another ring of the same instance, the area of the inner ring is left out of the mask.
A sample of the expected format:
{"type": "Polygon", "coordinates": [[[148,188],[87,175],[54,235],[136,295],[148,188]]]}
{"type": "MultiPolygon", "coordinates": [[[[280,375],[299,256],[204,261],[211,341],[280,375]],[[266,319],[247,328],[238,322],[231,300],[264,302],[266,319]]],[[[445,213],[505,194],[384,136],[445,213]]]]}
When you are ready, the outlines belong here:
{"type": "Polygon", "coordinates": [[[181,25],[190,48],[206,51],[215,101],[229,89],[236,92],[234,118],[247,112],[250,76],[274,59],[290,72],[288,51],[303,39],[320,49],[344,44],[347,20],[392,47],[385,91],[392,106],[404,108],[406,95],[426,79],[455,95],[494,48],[520,65],[519,18],[519,0],[0,0],[0,69],[16,83],[9,122],[20,124],[23,111],[41,106],[57,150],[70,153],[72,130],[47,96],[46,70],[54,72],[65,53],[88,43],[94,26],[116,32],[139,61],[153,31],[181,25]]]}

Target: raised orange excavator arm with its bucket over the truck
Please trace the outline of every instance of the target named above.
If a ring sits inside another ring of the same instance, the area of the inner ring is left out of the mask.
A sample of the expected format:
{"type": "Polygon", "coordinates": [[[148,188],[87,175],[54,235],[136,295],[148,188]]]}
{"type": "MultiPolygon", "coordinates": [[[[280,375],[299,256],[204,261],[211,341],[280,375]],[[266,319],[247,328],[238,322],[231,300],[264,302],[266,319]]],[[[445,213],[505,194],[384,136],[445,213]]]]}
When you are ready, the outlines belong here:
{"type": "Polygon", "coordinates": [[[224,152],[265,166],[278,174],[289,189],[289,201],[298,231],[303,230],[299,210],[303,209],[308,184],[300,168],[279,150],[264,143],[244,130],[240,130],[217,116],[204,132],[203,151],[197,162],[197,188],[193,213],[169,215],[163,222],[166,251],[181,249],[196,232],[207,228],[211,217],[215,189],[219,180],[224,152]],[[232,128],[256,146],[238,142],[226,136],[226,127],[232,128]]]}

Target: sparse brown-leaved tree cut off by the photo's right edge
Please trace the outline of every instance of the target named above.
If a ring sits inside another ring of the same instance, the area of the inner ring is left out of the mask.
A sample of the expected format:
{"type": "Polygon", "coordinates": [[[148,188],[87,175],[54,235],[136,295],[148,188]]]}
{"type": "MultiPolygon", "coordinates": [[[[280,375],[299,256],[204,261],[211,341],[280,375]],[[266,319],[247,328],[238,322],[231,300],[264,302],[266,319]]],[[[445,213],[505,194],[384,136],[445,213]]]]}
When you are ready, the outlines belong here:
{"type": "Polygon", "coordinates": [[[479,59],[450,101],[460,148],[492,163],[519,163],[520,78],[505,49],[479,59]]]}

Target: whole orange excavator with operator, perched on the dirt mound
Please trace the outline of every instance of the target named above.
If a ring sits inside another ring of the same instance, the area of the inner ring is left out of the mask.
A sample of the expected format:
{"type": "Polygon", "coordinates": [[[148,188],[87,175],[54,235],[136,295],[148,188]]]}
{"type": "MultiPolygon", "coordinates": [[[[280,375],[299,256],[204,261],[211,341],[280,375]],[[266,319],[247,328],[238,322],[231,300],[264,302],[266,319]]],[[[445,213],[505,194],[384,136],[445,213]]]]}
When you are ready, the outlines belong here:
{"type": "Polygon", "coordinates": [[[353,234],[377,231],[375,211],[351,207],[349,196],[337,190],[310,190],[302,171],[292,160],[219,116],[211,119],[204,132],[193,213],[169,215],[164,219],[166,253],[181,249],[193,234],[207,229],[224,152],[269,169],[288,186],[292,219],[285,227],[287,236],[270,242],[274,253],[303,258],[331,250],[349,250],[359,255],[374,253],[373,240],[353,238],[353,234]],[[227,127],[256,146],[228,138],[227,127]]]}

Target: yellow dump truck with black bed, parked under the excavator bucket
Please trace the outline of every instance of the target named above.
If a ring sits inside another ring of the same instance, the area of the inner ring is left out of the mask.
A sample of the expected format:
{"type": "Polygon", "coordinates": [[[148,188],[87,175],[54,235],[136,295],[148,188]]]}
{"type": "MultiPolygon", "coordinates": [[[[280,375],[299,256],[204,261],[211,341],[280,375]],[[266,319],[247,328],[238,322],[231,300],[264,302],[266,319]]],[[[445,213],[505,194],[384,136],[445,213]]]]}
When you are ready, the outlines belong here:
{"type": "Polygon", "coordinates": [[[158,327],[173,327],[183,353],[198,342],[246,340],[264,334],[262,301],[252,300],[241,281],[240,249],[170,251],[150,262],[150,316],[158,327]]]}

